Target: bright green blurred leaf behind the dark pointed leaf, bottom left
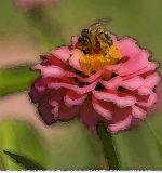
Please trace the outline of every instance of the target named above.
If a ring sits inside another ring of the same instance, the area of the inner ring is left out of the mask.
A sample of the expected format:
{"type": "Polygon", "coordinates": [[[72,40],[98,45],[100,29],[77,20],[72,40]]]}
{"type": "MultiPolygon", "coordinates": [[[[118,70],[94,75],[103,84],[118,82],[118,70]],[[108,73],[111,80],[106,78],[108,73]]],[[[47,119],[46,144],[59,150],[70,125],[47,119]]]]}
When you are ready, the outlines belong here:
{"type": "MultiPolygon", "coordinates": [[[[35,160],[43,168],[49,168],[46,143],[35,128],[21,121],[3,121],[0,123],[0,149],[10,150],[16,155],[35,160]]],[[[22,170],[21,164],[0,152],[6,170],[22,170]]]]}

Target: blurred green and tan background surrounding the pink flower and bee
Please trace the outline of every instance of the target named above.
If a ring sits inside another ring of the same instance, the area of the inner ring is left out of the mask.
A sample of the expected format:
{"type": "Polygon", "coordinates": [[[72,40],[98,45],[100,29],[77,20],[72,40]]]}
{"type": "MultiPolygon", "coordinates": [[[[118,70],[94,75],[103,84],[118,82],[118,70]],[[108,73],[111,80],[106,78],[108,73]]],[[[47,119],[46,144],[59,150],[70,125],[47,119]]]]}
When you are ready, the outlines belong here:
{"type": "MultiPolygon", "coordinates": [[[[162,1],[58,0],[35,9],[14,2],[0,1],[0,170],[23,169],[2,149],[31,158],[49,170],[107,170],[96,133],[78,120],[52,127],[41,121],[27,95],[35,79],[28,66],[103,17],[112,18],[106,25],[109,30],[136,38],[162,63],[162,1]]],[[[162,169],[161,103],[159,98],[146,121],[113,136],[121,169],[162,169]]]]}

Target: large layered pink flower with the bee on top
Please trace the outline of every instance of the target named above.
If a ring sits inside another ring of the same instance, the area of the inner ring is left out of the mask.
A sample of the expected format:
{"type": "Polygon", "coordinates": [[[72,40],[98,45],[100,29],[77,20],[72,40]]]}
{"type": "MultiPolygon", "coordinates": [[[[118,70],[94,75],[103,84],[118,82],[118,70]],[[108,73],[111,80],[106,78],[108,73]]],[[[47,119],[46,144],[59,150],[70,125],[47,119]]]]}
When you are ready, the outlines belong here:
{"type": "Polygon", "coordinates": [[[158,64],[135,40],[111,38],[106,58],[83,53],[72,37],[70,45],[54,49],[35,66],[41,77],[29,95],[46,124],[78,117],[89,128],[102,121],[117,133],[146,118],[157,102],[158,64]]]}

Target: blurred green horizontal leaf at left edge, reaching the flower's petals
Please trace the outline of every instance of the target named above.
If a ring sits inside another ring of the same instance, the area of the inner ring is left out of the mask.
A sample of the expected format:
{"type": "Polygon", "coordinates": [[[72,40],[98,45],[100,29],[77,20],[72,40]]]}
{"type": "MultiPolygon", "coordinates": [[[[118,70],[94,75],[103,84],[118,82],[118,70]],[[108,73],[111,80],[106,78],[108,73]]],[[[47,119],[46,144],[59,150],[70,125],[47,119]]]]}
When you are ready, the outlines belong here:
{"type": "Polygon", "coordinates": [[[30,68],[27,65],[0,69],[0,96],[27,90],[39,76],[37,70],[30,68]]]}

